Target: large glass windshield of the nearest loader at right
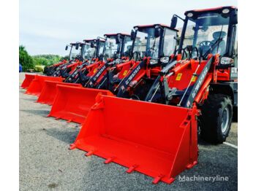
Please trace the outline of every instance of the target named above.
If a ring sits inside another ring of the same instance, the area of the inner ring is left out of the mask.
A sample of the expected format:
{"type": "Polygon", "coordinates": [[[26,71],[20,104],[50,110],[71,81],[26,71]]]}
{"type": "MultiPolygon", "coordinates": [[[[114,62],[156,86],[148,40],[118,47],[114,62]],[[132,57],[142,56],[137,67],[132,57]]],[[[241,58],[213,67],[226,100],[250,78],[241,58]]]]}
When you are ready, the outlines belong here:
{"type": "Polygon", "coordinates": [[[192,45],[197,49],[201,48],[203,55],[225,54],[229,17],[222,17],[219,13],[207,13],[196,19],[188,19],[183,48],[192,45]]]}

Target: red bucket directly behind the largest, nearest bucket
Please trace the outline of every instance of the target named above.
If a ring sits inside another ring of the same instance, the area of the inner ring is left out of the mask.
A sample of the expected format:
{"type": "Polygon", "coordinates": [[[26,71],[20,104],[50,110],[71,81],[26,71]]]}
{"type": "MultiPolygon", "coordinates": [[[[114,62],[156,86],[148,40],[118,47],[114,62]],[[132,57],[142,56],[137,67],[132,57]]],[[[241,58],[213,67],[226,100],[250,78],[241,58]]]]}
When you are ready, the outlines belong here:
{"type": "Polygon", "coordinates": [[[98,93],[113,95],[108,90],[57,85],[57,95],[48,117],[83,123],[98,93]]]}

